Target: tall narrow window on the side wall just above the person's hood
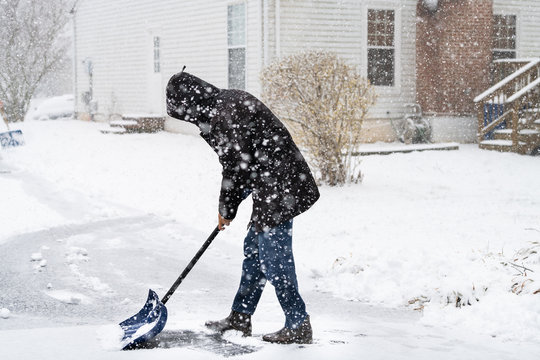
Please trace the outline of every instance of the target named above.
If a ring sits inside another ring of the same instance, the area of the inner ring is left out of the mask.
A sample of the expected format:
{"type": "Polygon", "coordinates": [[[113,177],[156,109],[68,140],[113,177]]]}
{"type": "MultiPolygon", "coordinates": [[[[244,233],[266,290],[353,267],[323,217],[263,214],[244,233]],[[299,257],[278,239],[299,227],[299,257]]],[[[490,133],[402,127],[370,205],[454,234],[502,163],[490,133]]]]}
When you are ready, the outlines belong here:
{"type": "Polygon", "coordinates": [[[229,88],[246,88],[246,6],[232,4],[227,9],[229,88]]]}

